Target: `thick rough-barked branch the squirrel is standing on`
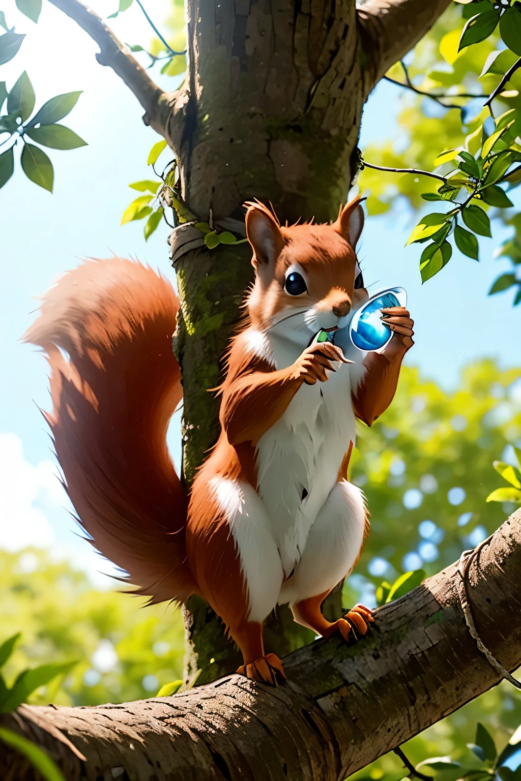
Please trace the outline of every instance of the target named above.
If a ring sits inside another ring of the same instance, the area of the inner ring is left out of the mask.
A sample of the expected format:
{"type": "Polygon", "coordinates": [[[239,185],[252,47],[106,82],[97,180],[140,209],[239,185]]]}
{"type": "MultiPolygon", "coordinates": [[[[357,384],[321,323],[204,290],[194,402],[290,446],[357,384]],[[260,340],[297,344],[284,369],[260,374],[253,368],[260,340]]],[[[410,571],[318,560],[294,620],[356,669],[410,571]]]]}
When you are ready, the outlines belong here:
{"type": "MultiPolygon", "coordinates": [[[[521,663],[520,574],[521,509],[473,557],[466,582],[477,631],[509,670],[521,663]]],[[[386,604],[358,644],[331,637],[290,654],[277,689],[234,675],[121,705],[23,705],[0,723],[45,748],[67,779],[338,781],[498,683],[466,626],[458,579],[456,563],[386,604]]],[[[29,779],[24,762],[4,751],[0,776],[29,779]]]]}

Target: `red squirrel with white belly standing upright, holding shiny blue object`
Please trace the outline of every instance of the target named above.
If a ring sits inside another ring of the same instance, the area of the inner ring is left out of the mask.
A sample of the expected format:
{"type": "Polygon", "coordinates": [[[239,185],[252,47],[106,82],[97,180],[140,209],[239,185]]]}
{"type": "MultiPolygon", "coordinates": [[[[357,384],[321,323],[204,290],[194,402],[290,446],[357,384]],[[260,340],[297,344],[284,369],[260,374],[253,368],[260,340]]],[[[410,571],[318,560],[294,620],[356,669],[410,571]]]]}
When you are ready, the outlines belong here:
{"type": "Polygon", "coordinates": [[[241,648],[237,672],[273,684],[284,669],[264,652],[262,622],[277,604],[323,637],[348,640],[373,620],[359,605],[330,623],[320,606],[369,531],[347,480],[355,419],[370,426],[391,403],[413,323],[405,308],[383,310],[394,335],[379,353],[312,343],[369,298],[355,254],[360,199],[333,224],[284,227],[247,207],[255,282],[219,389],[219,440],[188,495],[166,447],[182,390],[179,301],[162,276],[86,261],[48,291],[24,339],[48,355],[46,417],[91,544],[151,603],[203,597],[241,648]]]}

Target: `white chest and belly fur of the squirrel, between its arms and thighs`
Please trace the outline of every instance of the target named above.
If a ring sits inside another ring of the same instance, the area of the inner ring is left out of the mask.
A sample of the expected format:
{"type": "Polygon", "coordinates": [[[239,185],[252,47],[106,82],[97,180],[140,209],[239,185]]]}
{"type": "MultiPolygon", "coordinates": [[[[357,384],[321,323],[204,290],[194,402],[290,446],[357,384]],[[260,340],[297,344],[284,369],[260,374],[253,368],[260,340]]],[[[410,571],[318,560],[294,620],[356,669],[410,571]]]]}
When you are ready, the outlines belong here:
{"type": "MultiPolygon", "coordinates": [[[[309,341],[302,332],[295,339],[294,330],[291,339],[284,336],[269,333],[266,337],[277,369],[290,366],[309,341]]],[[[350,441],[355,444],[351,387],[361,367],[335,363],[335,368],[336,373],[328,372],[327,382],[303,384],[258,444],[259,495],[273,524],[286,576],[302,556],[309,529],[337,482],[350,441]]]]}

